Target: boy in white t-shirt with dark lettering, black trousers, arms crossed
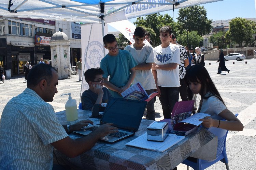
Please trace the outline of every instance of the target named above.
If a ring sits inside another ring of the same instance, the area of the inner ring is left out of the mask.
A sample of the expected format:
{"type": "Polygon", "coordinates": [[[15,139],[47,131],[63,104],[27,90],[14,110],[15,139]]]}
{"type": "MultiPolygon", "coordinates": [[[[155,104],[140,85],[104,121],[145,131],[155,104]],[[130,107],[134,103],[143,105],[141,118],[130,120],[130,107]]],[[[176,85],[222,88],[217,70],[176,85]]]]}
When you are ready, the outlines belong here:
{"type": "Polygon", "coordinates": [[[159,100],[163,109],[163,117],[171,118],[174,104],[179,101],[179,65],[180,48],[170,44],[171,27],[160,28],[161,45],[154,48],[155,64],[152,65],[152,73],[159,92],[159,100]]]}

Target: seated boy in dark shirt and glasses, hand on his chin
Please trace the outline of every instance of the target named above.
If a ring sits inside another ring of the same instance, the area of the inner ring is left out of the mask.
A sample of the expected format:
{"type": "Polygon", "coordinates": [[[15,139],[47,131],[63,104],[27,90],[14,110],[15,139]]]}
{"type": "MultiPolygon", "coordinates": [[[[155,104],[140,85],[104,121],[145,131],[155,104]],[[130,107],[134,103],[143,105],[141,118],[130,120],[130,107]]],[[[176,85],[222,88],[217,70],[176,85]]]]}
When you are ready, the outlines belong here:
{"type": "Polygon", "coordinates": [[[89,89],[82,94],[82,106],[84,110],[93,111],[95,104],[108,103],[111,96],[109,90],[103,87],[104,74],[101,68],[90,68],[85,71],[84,79],[89,85],[89,89]]]}

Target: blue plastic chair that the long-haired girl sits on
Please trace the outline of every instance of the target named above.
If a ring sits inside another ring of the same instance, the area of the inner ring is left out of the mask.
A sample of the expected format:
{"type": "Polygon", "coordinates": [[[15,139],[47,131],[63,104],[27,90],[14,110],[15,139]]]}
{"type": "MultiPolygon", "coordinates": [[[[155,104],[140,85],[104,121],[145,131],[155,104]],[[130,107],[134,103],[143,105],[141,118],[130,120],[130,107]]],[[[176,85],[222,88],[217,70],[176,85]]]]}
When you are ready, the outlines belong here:
{"type": "MultiPolygon", "coordinates": [[[[236,114],[235,116],[237,117],[238,114],[236,114]]],[[[185,159],[182,162],[182,164],[187,165],[187,170],[189,169],[189,167],[195,170],[203,170],[205,168],[212,166],[219,160],[223,162],[226,165],[226,169],[229,170],[228,157],[226,153],[226,138],[227,138],[228,130],[211,127],[208,129],[208,131],[210,131],[211,133],[213,133],[218,137],[216,159],[213,159],[213,160],[197,159],[197,163],[191,160],[185,159]]]]}

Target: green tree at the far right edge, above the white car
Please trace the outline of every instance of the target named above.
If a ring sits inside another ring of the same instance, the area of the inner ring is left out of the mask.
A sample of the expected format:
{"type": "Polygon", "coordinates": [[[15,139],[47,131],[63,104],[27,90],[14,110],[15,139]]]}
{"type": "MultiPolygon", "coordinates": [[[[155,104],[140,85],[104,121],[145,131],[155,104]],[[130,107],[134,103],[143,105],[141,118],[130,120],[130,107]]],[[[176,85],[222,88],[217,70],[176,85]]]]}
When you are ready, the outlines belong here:
{"type": "Polygon", "coordinates": [[[246,45],[253,44],[252,36],[256,33],[255,21],[237,17],[229,22],[229,28],[231,40],[239,44],[239,47],[242,47],[243,42],[246,45]]]}

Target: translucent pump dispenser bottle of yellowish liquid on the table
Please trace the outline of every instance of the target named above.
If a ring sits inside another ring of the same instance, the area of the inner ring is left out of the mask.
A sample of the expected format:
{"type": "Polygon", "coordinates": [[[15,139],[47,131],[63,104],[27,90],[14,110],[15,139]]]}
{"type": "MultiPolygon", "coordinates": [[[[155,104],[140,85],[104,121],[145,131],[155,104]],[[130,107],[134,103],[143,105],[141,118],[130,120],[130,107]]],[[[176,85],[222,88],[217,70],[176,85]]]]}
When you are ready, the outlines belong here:
{"type": "MultiPolygon", "coordinates": [[[[71,93],[63,94],[69,95],[69,100],[65,104],[67,121],[74,121],[78,119],[76,100],[72,99],[71,93]]],[[[63,95],[60,95],[63,96],[63,95]]]]}

